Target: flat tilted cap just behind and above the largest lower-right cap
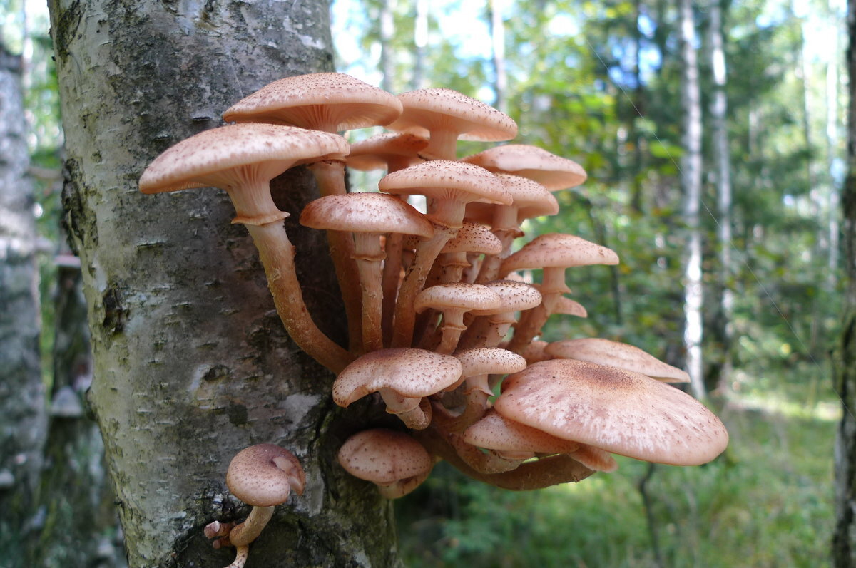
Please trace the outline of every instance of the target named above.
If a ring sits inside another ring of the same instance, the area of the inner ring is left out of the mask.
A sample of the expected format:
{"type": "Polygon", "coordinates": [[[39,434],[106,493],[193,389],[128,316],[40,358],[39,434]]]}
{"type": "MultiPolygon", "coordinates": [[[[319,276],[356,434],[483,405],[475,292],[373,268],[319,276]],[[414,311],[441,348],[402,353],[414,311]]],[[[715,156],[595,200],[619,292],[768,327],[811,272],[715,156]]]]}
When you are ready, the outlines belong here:
{"type": "Polygon", "coordinates": [[[619,341],[586,337],[578,340],[554,341],[544,352],[555,358],[578,359],[620,369],[632,370],[663,382],[689,382],[687,372],[639,349],[619,341]]]}

